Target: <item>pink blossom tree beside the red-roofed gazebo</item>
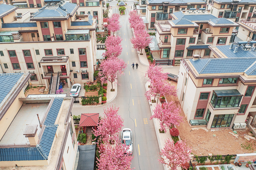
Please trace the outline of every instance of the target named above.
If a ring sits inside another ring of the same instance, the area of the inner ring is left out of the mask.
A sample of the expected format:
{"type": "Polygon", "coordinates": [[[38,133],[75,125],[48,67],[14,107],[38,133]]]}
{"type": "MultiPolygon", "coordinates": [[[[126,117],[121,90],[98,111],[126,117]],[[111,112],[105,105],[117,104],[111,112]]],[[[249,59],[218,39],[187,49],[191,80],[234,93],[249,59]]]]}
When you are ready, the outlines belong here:
{"type": "Polygon", "coordinates": [[[97,129],[94,131],[95,136],[100,136],[104,143],[112,143],[118,140],[118,132],[123,127],[123,119],[118,115],[119,107],[107,106],[104,109],[104,117],[100,120],[97,129]]]}

